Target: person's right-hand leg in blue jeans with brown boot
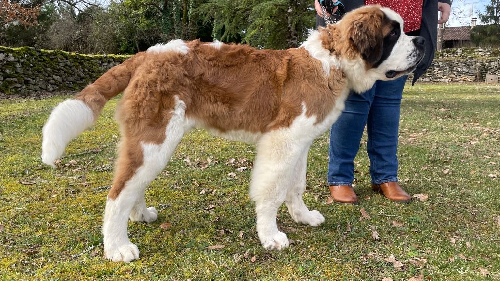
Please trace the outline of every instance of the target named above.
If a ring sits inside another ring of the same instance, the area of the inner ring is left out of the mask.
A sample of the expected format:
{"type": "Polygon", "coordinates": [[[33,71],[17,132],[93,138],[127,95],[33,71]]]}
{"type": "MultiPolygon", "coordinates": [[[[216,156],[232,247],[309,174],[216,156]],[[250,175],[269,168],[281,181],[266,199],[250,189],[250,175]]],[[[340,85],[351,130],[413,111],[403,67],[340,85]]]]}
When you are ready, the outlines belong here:
{"type": "Polygon", "coordinates": [[[366,121],[368,133],[366,150],[370,159],[372,187],[396,201],[411,199],[397,185],[399,113],[405,81],[406,76],[402,76],[392,81],[376,82],[376,90],[366,121]]]}

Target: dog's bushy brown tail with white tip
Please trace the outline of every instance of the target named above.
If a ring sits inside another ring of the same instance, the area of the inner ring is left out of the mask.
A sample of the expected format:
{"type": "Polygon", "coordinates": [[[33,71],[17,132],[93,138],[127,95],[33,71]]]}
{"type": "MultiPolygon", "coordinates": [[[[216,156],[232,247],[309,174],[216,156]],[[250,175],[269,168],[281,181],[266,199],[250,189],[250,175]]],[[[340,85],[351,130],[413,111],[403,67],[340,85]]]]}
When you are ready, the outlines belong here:
{"type": "Polygon", "coordinates": [[[74,98],[59,103],[52,110],[42,130],[41,160],[45,164],[55,168],[54,160],[64,153],[69,141],[90,127],[106,102],[127,87],[142,55],[135,54],[109,69],[74,98]]]}

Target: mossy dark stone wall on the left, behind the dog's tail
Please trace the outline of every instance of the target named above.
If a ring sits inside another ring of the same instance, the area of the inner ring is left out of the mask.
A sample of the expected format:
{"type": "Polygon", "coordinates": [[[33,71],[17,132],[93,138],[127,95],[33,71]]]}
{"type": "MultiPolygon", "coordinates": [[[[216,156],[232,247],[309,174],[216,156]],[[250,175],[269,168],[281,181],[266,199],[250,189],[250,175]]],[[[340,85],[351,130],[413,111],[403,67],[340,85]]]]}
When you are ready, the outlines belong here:
{"type": "Polygon", "coordinates": [[[0,46],[0,93],[80,90],[128,57],[0,46]]]}

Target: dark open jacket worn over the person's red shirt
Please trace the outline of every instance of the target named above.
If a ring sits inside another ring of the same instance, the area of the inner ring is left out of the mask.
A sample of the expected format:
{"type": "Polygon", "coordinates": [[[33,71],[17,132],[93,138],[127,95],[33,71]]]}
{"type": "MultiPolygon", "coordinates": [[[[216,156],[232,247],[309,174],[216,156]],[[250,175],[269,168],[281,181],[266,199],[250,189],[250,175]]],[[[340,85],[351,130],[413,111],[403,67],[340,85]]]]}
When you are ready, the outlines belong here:
{"type": "MultiPolygon", "coordinates": [[[[434,58],[434,51],[437,43],[438,2],[450,4],[450,0],[423,0],[420,36],[425,38],[425,55],[423,56],[422,62],[420,62],[415,71],[413,71],[413,81],[411,84],[414,84],[423,72],[427,70],[434,58]]],[[[364,5],[364,0],[343,0],[342,3],[347,12],[364,5]]],[[[316,29],[324,25],[324,19],[316,14],[316,29]]]]}

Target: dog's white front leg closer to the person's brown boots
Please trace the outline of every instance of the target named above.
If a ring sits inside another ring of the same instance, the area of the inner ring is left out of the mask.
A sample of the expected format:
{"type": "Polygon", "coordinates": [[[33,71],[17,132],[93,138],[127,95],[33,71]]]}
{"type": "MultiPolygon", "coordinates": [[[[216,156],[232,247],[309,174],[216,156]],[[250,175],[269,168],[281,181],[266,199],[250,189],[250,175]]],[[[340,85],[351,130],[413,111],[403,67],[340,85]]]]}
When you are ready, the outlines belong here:
{"type": "Polygon", "coordinates": [[[288,182],[288,189],[286,190],[285,203],[288,208],[290,216],[297,223],[309,224],[310,226],[318,226],[324,222],[323,215],[317,210],[310,211],[304,204],[302,194],[305,188],[305,173],[307,167],[307,146],[302,152],[295,163],[293,173],[291,174],[288,182]]]}

